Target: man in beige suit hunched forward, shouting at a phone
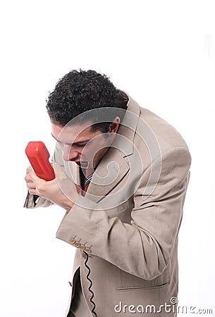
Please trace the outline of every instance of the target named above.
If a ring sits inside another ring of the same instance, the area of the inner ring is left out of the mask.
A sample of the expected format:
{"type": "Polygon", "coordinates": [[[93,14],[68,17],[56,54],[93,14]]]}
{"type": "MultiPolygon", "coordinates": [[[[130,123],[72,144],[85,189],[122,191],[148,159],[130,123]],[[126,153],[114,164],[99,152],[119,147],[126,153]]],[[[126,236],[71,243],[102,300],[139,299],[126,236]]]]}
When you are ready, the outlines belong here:
{"type": "Polygon", "coordinates": [[[176,316],[187,144],[93,70],[59,80],[47,111],[56,178],[27,168],[25,207],[66,209],[56,233],[76,247],[66,316],[176,316]]]}

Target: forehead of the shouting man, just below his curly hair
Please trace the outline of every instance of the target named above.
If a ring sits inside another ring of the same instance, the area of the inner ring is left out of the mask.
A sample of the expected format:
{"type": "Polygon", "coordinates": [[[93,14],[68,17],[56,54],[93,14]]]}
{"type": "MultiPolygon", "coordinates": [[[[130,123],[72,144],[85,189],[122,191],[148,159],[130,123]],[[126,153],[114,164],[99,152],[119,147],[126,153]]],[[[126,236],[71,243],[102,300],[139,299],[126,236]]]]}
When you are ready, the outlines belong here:
{"type": "Polygon", "coordinates": [[[95,132],[91,130],[91,127],[90,122],[64,127],[51,123],[51,135],[60,142],[71,144],[92,137],[95,132]]]}

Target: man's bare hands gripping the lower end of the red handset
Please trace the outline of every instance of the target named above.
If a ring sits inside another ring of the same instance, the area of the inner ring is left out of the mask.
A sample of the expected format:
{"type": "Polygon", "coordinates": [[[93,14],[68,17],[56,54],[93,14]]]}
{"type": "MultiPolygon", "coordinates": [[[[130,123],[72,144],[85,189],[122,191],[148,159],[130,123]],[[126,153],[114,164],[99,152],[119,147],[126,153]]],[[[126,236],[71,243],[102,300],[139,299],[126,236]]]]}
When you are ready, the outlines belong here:
{"type": "Polygon", "coordinates": [[[76,185],[68,178],[59,164],[54,163],[53,168],[56,178],[50,181],[38,178],[32,169],[27,168],[25,181],[27,182],[28,190],[30,194],[44,197],[70,211],[75,201],[78,200],[76,185]]]}

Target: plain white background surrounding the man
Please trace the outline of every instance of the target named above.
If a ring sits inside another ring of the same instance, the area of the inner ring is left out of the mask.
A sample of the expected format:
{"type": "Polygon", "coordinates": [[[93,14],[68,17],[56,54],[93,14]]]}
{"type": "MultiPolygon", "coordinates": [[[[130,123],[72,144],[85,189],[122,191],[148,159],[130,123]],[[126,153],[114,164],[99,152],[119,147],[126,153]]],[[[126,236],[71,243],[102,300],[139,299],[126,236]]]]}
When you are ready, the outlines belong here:
{"type": "Polygon", "coordinates": [[[178,304],[215,314],[213,2],[1,2],[1,317],[66,310],[75,250],[55,238],[62,209],[23,209],[24,150],[31,139],[54,149],[45,99],[77,68],[109,75],[188,143],[178,304]]]}

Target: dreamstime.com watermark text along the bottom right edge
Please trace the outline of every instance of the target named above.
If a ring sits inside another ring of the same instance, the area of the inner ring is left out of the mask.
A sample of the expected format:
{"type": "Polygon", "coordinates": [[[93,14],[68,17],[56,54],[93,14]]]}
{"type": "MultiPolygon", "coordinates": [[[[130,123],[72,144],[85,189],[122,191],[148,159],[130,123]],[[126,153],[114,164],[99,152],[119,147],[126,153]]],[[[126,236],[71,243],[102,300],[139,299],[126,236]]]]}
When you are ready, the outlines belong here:
{"type": "MultiPolygon", "coordinates": [[[[189,313],[189,314],[213,314],[213,309],[199,309],[197,306],[179,306],[177,297],[171,297],[170,304],[164,303],[156,306],[153,304],[148,305],[126,305],[122,302],[114,306],[116,313],[189,313]]],[[[168,316],[168,315],[167,315],[168,316]]]]}

